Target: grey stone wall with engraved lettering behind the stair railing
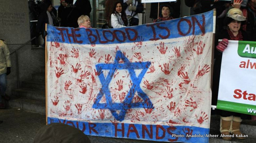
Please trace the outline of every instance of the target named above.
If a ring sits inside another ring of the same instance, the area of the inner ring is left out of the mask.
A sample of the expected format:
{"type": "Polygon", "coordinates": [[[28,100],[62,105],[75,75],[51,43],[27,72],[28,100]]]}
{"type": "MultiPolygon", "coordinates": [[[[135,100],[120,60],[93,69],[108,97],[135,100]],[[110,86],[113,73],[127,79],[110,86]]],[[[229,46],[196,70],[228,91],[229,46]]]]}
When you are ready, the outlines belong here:
{"type": "MultiPolygon", "coordinates": [[[[27,0],[0,0],[0,38],[4,39],[9,51],[30,40],[29,14],[27,0]]],[[[11,55],[11,74],[7,76],[7,94],[17,88],[16,54],[11,55]]],[[[44,66],[44,50],[31,50],[28,44],[18,51],[19,77],[21,81],[30,80],[31,74],[39,72],[44,66]]]]}

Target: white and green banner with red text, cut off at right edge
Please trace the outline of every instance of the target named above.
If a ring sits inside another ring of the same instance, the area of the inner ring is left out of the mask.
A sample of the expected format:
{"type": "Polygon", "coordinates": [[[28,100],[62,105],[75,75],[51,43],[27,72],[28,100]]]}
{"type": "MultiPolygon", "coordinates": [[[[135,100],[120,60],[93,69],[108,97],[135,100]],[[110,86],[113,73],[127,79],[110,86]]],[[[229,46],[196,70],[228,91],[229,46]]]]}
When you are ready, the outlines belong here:
{"type": "Polygon", "coordinates": [[[229,41],[223,52],[217,108],[256,114],[256,42],[229,41]]]}

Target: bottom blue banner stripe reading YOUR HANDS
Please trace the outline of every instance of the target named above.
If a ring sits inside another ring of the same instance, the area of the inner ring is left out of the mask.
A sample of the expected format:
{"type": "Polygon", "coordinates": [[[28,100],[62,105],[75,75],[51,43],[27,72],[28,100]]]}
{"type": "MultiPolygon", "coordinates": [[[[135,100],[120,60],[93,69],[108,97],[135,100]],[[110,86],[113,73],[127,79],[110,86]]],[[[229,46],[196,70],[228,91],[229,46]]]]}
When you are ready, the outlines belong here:
{"type": "Polygon", "coordinates": [[[125,123],[89,123],[48,117],[48,124],[63,123],[87,135],[167,142],[208,143],[209,129],[190,126],[162,126],[125,123]],[[186,137],[193,135],[196,137],[186,137]],[[179,137],[180,136],[180,137],[179,137]]]}

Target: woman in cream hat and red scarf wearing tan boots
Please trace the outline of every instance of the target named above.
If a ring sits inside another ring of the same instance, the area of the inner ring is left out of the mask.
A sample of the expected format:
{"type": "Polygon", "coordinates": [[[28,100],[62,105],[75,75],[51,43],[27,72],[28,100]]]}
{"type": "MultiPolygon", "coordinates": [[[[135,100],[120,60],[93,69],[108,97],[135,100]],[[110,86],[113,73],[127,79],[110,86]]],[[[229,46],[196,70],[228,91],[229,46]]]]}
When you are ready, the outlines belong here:
{"type": "MultiPolygon", "coordinates": [[[[237,8],[230,9],[227,13],[227,16],[224,19],[224,25],[226,29],[219,35],[217,39],[222,39],[216,46],[215,50],[215,64],[214,64],[214,73],[213,73],[213,95],[214,91],[218,92],[219,88],[219,78],[220,78],[220,67],[222,52],[228,46],[228,40],[248,40],[246,32],[241,30],[241,25],[244,24],[246,18],[243,16],[242,11],[237,8]]],[[[230,111],[221,110],[220,112],[220,132],[222,135],[237,134],[243,135],[240,131],[241,118],[247,119],[247,115],[241,113],[235,113],[230,111]]],[[[222,137],[225,140],[231,140],[230,136],[222,137]]],[[[237,137],[239,139],[245,139],[245,137],[237,137]]]]}

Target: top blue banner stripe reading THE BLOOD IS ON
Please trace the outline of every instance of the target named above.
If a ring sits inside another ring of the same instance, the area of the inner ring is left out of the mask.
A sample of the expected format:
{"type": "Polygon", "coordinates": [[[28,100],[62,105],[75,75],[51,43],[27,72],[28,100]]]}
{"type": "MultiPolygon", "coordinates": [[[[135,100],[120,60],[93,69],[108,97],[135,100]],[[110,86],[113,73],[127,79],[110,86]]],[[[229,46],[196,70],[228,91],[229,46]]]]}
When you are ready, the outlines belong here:
{"type": "Polygon", "coordinates": [[[114,44],[182,36],[201,35],[213,30],[213,11],[119,29],[65,28],[47,25],[47,41],[74,44],[114,44]]]}

